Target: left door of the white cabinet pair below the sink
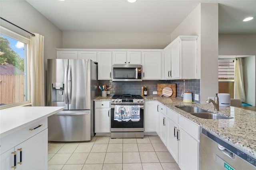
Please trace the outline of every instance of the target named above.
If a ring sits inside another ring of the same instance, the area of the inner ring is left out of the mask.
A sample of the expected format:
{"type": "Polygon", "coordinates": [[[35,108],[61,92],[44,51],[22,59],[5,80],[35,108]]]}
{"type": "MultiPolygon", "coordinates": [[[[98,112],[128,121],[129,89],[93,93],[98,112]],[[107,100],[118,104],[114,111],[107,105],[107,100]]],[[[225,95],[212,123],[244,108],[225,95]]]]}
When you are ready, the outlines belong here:
{"type": "Polygon", "coordinates": [[[177,130],[178,125],[174,123],[170,118],[167,118],[167,144],[166,147],[174,160],[178,163],[178,140],[177,140],[177,130]]]}

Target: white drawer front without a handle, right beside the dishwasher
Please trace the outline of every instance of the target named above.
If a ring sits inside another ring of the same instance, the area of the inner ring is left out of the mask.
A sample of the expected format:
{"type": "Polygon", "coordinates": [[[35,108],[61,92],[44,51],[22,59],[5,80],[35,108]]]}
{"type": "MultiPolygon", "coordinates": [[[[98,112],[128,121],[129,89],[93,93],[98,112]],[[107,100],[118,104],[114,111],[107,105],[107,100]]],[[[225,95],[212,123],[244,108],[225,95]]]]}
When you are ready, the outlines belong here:
{"type": "Polygon", "coordinates": [[[199,125],[180,115],[179,127],[199,141],[199,125]]]}

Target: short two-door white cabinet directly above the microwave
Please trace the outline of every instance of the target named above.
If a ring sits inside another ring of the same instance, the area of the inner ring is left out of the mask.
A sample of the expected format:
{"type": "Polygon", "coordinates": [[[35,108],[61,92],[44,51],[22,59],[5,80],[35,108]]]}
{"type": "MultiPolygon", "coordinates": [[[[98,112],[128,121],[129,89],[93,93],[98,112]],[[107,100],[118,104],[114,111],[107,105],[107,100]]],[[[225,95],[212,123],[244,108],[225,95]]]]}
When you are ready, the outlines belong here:
{"type": "Polygon", "coordinates": [[[113,51],[113,64],[141,64],[141,52],[137,51],[113,51]]]}

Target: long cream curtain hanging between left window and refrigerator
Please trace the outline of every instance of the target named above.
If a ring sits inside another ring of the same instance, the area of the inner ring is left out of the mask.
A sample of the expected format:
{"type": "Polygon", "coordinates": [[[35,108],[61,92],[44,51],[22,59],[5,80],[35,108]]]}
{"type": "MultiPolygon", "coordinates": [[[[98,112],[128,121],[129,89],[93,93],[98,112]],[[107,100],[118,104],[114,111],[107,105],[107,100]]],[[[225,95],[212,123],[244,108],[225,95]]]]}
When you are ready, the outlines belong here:
{"type": "Polygon", "coordinates": [[[32,106],[44,106],[44,36],[30,36],[28,78],[32,106]]]}

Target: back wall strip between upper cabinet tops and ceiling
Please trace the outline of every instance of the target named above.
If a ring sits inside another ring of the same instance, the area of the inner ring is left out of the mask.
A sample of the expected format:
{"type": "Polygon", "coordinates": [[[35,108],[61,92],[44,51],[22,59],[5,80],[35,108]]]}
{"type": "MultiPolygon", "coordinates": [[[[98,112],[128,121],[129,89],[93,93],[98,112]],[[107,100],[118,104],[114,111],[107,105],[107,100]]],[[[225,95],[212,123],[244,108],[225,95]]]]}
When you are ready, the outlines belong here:
{"type": "Polygon", "coordinates": [[[63,48],[75,49],[164,49],[170,33],[63,31],[63,48]]]}

